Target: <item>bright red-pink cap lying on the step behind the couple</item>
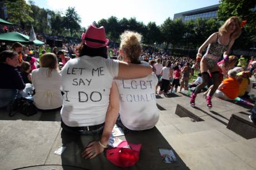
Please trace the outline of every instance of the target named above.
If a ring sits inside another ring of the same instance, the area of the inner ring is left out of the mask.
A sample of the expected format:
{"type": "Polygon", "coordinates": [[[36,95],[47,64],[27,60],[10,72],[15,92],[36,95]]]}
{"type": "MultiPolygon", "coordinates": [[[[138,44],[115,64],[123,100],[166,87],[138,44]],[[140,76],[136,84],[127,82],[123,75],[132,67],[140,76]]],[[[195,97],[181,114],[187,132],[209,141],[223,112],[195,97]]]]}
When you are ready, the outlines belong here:
{"type": "Polygon", "coordinates": [[[122,141],[117,147],[106,150],[107,159],[116,166],[125,168],[134,166],[140,158],[141,144],[122,141]],[[130,148],[125,148],[126,146],[130,148]]]}

